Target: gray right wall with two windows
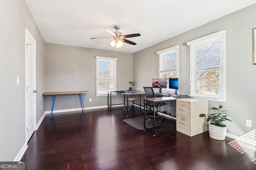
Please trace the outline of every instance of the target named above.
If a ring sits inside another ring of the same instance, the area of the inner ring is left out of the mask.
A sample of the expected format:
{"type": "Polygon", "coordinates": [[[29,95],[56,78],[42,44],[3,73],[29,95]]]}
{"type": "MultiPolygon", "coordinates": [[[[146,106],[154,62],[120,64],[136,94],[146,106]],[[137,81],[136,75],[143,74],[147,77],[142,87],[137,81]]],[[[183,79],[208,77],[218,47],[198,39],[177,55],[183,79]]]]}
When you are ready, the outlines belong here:
{"type": "Polygon", "coordinates": [[[186,42],[226,30],[227,100],[226,102],[209,101],[209,113],[213,113],[211,107],[218,105],[228,109],[227,115],[233,121],[233,123],[226,122],[228,133],[241,136],[256,129],[256,78],[254,76],[256,65],[252,64],[252,28],[256,27],[254,16],[256,16],[256,4],[134,53],[133,78],[137,82],[136,89],[142,90],[142,86],[151,86],[151,78],[158,77],[156,52],[179,45],[180,94],[186,94],[188,92],[186,42]],[[138,72],[140,74],[137,74],[138,72]],[[246,119],[252,120],[252,127],[245,126],[246,119]]]}

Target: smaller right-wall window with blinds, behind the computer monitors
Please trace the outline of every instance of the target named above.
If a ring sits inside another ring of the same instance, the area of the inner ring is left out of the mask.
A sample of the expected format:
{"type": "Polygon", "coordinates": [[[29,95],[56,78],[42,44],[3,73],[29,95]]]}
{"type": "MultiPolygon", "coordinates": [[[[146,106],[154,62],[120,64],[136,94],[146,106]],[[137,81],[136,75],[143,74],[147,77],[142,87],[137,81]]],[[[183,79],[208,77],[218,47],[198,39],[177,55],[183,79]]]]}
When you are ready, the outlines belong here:
{"type": "MultiPolygon", "coordinates": [[[[159,55],[159,78],[167,78],[168,80],[168,78],[178,77],[178,52],[178,45],[157,52],[159,55]]],[[[169,86],[167,86],[166,90],[169,90],[169,86]]]]}

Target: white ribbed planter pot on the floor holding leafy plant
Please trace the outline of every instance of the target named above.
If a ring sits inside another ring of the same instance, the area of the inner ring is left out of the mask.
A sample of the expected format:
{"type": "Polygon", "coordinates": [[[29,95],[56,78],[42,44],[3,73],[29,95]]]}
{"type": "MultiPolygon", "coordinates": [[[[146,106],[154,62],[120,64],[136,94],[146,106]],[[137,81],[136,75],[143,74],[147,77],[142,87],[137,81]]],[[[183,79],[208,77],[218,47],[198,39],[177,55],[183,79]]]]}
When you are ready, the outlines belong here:
{"type": "Polygon", "coordinates": [[[209,136],[212,139],[216,139],[216,140],[224,140],[226,137],[226,131],[227,131],[227,127],[219,127],[219,126],[215,126],[210,124],[211,122],[208,122],[209,124],[209,136]]]}

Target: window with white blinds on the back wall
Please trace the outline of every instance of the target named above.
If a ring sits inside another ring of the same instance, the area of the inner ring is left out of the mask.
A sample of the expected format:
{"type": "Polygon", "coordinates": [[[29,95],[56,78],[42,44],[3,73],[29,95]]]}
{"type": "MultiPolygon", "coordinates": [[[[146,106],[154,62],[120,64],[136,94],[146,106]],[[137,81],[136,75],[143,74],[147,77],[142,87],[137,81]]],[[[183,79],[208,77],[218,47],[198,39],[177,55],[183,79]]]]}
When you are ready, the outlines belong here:
{"type": "Polygon", "coordinates": [[[116,90],[116,58],[96,56],[96,96],[116,90]]]}

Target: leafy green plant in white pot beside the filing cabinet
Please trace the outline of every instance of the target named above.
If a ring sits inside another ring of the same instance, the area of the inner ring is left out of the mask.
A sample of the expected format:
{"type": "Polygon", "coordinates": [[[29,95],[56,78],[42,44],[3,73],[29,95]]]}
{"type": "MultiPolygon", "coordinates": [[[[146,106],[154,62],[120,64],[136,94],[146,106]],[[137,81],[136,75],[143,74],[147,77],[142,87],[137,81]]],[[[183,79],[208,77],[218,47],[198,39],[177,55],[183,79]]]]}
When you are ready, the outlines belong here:
{"type": "MultiPolygon", "coordinates": [[[[216,140],[224,140],[226,137],[226,130],[227,130],[227,125],[225,125],[223,122],[228,120],[231,121],[230,119],[227,118],[223,110],[222,106],[217,107],[212,107],[214,110],[218,110],[217,113],[212,113],[208,115],[208,118],[206,121],[208,121],[209,124],[209,135],[212,139],[216,140]]],[[[205,117],[206,114],[202,113],[199,115],[199,117],[205,117]]],[[[232,121],[231,121],[232,122],[232,121]]]]}

